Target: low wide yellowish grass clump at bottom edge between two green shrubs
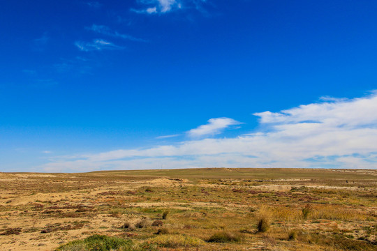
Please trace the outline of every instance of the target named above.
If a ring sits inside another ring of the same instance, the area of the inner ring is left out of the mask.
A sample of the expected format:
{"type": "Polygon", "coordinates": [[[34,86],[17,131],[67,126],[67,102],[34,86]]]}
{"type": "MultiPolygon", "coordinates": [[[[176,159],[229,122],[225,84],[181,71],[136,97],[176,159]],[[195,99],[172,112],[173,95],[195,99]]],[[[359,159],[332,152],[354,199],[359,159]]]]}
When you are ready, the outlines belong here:
{"type": "Polygon", "coordinates": [[[193,236],[177,234],[165,234],[152,238],[149,243],[158,245],[162,248],[190,248],[204,245],[205,242],[193,236]]]}

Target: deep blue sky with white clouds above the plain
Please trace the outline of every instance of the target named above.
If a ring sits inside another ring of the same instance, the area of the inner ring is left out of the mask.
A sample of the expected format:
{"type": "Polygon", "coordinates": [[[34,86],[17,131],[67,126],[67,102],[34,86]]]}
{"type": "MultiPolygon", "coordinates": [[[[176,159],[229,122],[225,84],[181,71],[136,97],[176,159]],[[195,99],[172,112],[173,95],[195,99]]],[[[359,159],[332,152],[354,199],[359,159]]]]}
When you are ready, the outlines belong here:
{"type": "Polygon", "coordinates": [[[0,171],[377,168],[376,13],[1,1],[0,171]]]}

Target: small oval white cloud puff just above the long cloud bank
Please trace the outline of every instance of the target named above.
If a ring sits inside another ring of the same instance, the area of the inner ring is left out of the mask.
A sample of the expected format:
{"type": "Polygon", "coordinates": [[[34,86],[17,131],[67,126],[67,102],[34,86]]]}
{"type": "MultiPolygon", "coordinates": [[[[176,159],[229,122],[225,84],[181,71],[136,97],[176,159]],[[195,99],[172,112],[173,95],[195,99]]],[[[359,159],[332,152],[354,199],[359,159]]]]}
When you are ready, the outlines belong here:
{"type": "Polygon", "coordinates": [[[206,125],[191,129],[187,133],[190,137],[202,137],[207,135],[216,135],[222,132],[225,128],[233,125],[239,125],[238,121],[229,118],[209,119],[206,125]]]}

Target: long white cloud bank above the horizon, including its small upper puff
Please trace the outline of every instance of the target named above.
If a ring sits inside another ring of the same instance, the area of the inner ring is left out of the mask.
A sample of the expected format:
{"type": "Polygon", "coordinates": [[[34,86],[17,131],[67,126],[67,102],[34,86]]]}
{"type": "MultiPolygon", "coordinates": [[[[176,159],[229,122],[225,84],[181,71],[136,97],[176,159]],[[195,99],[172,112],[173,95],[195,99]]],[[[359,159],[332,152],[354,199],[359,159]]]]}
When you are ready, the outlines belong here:
{"type": "MultiPolygon", "coordinates": [[[[51,160],[47,172],[188,167],[338,167],[377,169],[377,94],[260,112],[261,130],[147,149],[108,151],[51,160]]],[[[235,125],[212,119],[189,132],[209,135],[235,125]]]]}

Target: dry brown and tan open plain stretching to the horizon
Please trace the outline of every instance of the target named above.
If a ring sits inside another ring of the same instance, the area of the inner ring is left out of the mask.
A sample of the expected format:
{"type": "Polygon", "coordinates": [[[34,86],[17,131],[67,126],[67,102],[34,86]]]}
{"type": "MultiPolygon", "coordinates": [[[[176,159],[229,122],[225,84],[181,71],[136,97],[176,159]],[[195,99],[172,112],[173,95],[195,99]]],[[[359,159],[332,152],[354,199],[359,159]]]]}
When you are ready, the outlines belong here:
{"type": "Polygon", "coordinates": [[[0,173],[0,250],[377,250],[376,220],[377,170],[0,173]]]}

